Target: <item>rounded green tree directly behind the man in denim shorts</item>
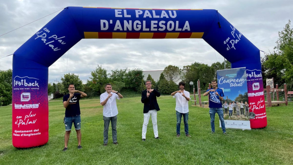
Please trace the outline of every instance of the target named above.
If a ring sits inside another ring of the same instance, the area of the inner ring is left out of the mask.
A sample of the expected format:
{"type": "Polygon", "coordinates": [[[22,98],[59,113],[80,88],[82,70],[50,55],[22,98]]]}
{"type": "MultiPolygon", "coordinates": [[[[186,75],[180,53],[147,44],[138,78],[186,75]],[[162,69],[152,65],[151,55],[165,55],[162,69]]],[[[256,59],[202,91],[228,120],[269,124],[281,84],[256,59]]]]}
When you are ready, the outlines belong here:
{"type": "Polygon", "coordinates": [[[66,94],[68,93],[68,86],[69,84],[74,84],[75,90],[83,91],[83,85],[82,81],[79,79],[78,75],[75,75],[74,73],[67,73],[64,74],[64,78],[61,77],[61,89],[59,93],[66,94]]]}

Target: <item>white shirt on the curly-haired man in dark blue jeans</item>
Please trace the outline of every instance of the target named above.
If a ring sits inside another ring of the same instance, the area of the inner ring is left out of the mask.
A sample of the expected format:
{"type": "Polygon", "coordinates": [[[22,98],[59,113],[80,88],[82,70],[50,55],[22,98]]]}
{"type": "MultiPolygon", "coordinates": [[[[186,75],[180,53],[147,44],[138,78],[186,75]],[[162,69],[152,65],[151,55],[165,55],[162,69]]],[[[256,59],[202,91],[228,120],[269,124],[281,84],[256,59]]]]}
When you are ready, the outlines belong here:
{"type": "MultiPolygon", "coordinates": [[[[183,91],[185,96],[190,99],[190,93],[187,92],[186,90],[183,91]]],[[[188,101],[185,99],[185,97],[182,96],[182,93],[175,93],[173,98],[176,98],[176,107],[175,110],[180,112],[180,113],[187,113],[189,112],[188,109],[188,101]]]]}

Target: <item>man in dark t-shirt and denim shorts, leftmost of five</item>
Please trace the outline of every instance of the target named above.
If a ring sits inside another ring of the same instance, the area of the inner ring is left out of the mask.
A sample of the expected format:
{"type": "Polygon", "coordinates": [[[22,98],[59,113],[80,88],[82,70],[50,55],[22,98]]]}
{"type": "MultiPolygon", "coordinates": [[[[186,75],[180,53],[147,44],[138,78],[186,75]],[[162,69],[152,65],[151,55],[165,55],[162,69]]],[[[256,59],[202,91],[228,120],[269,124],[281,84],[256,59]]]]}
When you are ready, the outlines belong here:
{"type": "Polygon", "coordinates": [[[65,124],[65,135],[64,135],[64,149],[67,150],[67,144],[69,141],[69,135],[71,132],[72,123],[74,124],[74,128],[76,130],[76,136],[78,141],[78,149],[81,149],[81,131],[80,131],[80,108],[79,108],[79,99],[86,97],[87,95],[84,92],[79,90],[75,90],[73,84],[69,84],[68,86],[69,94],[63,96],[63,106],[66,108],[64,124],[65,124]],[[77,92],[77,93],[76,93],[77,92]]]}

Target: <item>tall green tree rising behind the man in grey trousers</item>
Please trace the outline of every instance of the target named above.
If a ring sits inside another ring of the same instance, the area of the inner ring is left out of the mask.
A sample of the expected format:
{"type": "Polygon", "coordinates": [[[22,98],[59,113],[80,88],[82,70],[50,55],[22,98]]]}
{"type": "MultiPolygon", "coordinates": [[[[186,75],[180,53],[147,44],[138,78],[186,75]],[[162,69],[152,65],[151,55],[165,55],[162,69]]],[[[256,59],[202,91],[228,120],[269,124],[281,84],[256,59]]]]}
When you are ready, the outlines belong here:
{"type": "Polygon", "coordinates": [[[90,80],[87,80],[87,84],[97,94],[101,94],[105,91],[105,84],[109,83],[107,70],[102,68],[102,65],[98,65],[95,70],[91,71],[90,80]]]}

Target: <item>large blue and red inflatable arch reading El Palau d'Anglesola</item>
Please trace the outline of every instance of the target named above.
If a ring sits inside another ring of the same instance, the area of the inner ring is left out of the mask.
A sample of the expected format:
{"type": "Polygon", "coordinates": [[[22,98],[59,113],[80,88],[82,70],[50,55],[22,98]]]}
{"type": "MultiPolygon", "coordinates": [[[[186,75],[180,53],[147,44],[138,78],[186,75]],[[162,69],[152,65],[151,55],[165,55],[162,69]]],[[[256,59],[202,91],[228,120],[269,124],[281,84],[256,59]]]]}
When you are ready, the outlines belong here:
{"type": "Polygon", "coordinates": [[[246,67],[251,128],[266,127],[260,51],[212,9],[67,7],[13,55],[12,143],[46,144],[48,67],[83,38],[202,38],[231,62],[246,67]]]}

